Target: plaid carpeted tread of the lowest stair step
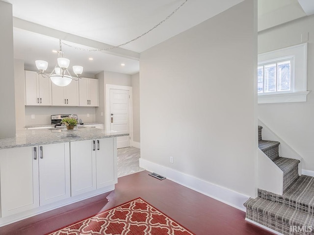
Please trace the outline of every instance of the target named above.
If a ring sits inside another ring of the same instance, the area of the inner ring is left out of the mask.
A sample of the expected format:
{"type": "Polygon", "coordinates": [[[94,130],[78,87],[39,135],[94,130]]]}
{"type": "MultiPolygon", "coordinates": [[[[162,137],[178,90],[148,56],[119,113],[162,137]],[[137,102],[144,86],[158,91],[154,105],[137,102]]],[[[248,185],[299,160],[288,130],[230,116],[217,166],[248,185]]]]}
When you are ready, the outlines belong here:
{"type": "MultiPolygon", "coordinates": [[[[274,221],[284,222],[287,226],[313,226],[314,215],[303,211],[294,210],[280,203],[272,202],[266,199],[257,197],[250,198],[244,203],[248,210],[256,211],[262,216],[269,216],[274,221]]],[[[254,218],[249,218],[256,221],[254,218]]],[[[262,221],[256,221],[262,223],[262,221]]],[[[314,233],[314,231],[313,231],[314,233]]]]}

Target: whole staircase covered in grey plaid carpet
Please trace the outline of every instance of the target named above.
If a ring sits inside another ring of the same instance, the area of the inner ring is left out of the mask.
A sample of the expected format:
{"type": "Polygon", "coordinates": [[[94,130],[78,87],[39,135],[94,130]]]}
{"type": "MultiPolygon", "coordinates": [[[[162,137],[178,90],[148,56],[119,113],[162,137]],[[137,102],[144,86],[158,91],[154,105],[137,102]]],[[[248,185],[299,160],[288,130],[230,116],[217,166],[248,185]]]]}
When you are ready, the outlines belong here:
{"type": "Polygon", "coordinates": [[[244,203],[246,218],[284,235],[314,235],[314,177],[298,174],[299,160],[279,156],[278,141],[262,140],[259,148],[284,172],[283,195],[258,189],[244,203]]]}

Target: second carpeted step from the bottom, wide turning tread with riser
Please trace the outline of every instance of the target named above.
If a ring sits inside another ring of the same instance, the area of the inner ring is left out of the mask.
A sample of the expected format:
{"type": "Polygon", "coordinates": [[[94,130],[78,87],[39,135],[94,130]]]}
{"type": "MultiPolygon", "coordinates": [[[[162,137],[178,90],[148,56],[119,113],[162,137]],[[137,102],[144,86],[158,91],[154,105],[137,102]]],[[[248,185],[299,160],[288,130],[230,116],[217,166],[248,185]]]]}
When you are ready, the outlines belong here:
{"type": "Polygon", "coordinates": [[[258,189],[258,196],[314,215],[314,177],[301,175],[283,195],[258,189]]]}

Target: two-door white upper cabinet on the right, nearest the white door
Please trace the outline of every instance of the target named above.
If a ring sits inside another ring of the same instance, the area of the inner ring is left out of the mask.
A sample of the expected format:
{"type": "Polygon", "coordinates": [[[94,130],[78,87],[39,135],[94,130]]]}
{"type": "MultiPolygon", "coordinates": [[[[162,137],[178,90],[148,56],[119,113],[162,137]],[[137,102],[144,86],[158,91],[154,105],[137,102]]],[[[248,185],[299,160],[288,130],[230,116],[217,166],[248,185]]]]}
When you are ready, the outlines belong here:
{"type": "Polygon", "coordinates": [[[79,79],[79,106],[98,106],[98,79],[79,79]]]}

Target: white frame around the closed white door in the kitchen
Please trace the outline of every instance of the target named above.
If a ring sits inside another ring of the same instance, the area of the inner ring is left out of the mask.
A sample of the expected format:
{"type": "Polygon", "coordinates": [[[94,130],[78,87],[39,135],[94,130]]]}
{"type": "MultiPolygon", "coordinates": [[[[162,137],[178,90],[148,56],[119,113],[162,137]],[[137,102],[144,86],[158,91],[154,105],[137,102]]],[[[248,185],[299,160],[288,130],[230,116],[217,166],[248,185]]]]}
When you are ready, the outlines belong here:
{"type": "Polygon", "coordinates": [[[133,96],[132,96],[132,87],[129,86],[120,86],[120,85],[112,85],[106,84],[106,94],[105,94],[105,131],[107,133],[110,132],[110,89],[115,90],[125,90],[129,91],[130,94],[130,105],[129,105],[129,121],[130,121],[130,146],[133,146],[133,96]]]}

